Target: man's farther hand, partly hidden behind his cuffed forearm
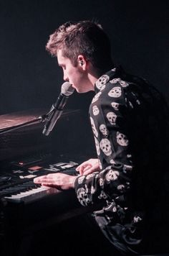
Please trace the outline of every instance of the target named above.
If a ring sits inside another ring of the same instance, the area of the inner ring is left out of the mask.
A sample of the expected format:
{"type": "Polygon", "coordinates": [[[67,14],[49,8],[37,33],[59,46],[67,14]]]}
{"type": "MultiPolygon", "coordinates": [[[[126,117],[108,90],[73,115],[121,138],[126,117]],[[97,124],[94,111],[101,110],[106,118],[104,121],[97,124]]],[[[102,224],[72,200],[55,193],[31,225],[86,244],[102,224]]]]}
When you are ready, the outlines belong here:
{"type": "Polygon", "coordinates": [[[80,175],[87,175],[100,171],[99,160],[97,158],[90,158],[90,160],[87,160],[79,165],[76,170],[80,173],[80,175]]]}

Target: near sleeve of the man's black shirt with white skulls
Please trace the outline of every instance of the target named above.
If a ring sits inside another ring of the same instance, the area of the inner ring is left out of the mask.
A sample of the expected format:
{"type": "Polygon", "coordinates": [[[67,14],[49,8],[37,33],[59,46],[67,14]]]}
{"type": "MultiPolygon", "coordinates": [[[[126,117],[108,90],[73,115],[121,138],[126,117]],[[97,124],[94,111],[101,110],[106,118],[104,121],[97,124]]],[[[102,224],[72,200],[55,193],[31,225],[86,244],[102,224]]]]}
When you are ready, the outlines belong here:
{"type": "Polygon", "coordinates": [[[100,200],[112,201],[130,190],[133,166],[126,102],[125,91],[118,81],[108,83],[92,101],[90,118],[97,155],[103,166],[100,173],[81,175],[75,180],[77,198],[83,206],[100,200]]]}

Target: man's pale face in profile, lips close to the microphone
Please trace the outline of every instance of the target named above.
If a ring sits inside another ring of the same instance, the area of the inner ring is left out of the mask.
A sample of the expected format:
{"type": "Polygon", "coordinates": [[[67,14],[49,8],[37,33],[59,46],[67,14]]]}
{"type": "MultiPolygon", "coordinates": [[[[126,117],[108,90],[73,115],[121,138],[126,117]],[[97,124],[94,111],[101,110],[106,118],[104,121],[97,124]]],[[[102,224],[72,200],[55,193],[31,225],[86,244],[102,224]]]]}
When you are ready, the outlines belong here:
{"type": "Polygon", "coordinates": [[[92,90],[92,84],[87,76],[87,70],[83,70],[80,63],[74,67],[69,58],[62,56],[62,50],[57,50],[57,60],[60,67],[63,69],[64,81],[69,81],[72,87],[78,93],[85,93],[92,90]]]}

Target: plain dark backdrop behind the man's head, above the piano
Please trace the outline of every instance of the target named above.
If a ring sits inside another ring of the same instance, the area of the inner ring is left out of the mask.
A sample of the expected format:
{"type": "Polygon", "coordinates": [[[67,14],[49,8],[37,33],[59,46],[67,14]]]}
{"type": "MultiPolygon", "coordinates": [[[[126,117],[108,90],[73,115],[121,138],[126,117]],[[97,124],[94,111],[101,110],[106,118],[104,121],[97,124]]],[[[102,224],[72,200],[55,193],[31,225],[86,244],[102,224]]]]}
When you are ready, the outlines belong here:
{"type": "MultiPolygon", "coordinates": [[[[0,114],[50,108],[63,80],[45,45],[60,24],[82,19],[100,22],[114,62],[168,100],[168,1],[0,0],[0,114]]],[[[91,97],[74,93],[66,108],[88,109],[91,97]]]]}

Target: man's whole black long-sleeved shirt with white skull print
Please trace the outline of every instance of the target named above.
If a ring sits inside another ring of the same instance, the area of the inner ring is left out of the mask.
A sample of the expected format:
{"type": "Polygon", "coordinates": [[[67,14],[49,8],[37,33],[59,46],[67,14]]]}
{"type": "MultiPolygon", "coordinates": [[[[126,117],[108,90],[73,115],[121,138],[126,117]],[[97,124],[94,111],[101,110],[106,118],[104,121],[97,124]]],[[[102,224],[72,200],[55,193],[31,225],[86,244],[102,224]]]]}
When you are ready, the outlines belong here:
{"type": "Polygon", "coordinates": [[[105,201],[95,212],[102,232],[121,251],[137,254],[148,248],[149,220],[161,203],[168,110],[153,86],[122,68],[101,76],[95,93],[90,122],[100,172],[77,178],[77,198],[83,206],[105,201]]]}

